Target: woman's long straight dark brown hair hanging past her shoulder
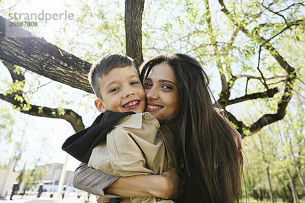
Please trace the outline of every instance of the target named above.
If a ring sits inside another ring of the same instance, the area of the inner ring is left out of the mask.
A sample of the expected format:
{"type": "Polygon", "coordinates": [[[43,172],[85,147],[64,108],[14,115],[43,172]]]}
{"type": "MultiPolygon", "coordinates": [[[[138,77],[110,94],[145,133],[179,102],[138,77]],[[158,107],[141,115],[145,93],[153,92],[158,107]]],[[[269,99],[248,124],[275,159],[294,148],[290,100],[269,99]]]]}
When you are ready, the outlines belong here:
{"type": "Polygon", "coordinates": [[[140,66],[141,81],[160,63],[171,66],[182,98],[174,136],[176,158],[184,165],[181,201],[239,202],[242,154],[237,150],[232,126],[212,104],[209,80],[202,66],[186,54],[163,54],[140,66]]]}

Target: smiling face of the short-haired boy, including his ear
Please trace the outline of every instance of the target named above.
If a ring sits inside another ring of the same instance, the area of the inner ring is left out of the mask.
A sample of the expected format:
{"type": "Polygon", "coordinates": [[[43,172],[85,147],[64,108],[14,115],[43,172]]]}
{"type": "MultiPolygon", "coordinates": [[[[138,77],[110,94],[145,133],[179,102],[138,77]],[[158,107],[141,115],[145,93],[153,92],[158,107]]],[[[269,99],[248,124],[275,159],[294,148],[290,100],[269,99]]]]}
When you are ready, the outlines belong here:
{"type": "Polygon", "coordinates": [[[132,66],[115,67],[100,79],[103,99],[96,99],[100,112],[142,113],[146,107],[146,97],[138,73],[132,66]]]}

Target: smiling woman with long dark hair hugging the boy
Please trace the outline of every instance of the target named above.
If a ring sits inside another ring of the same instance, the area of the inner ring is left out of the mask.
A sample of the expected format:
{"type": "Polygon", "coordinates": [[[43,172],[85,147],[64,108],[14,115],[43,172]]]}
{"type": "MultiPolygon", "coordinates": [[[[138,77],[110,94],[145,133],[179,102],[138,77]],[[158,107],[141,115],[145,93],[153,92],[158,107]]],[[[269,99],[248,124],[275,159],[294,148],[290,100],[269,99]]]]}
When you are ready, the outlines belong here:
{"type": "MultiPolygon", "coordinates": [[[[236,150],[236,142],[238,148],[241,142],[236,130],[215,110],[200,63],[185,54],[159,55],[141,65],[140,79],[145,87],[146,111],[175,135],[174,152],[185,182],[179,195],[181,202],[238,202],[242,155],[240,149],[236,150]]],[[[175,197],[177,173],[170,170],[163,176],[120,177],[107,192],[175,197]],[[162,185],[169,190],[158,191],[162,185]]]]}

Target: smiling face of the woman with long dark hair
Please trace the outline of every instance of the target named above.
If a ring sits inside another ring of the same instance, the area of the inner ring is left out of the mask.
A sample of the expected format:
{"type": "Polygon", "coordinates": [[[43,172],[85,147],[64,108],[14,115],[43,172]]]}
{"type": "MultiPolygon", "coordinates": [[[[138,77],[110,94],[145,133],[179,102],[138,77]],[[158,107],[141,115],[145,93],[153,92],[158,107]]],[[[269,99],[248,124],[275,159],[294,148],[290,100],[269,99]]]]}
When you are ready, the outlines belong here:
{"type": "Polygon", "coordinates": [[[166,63],[154,65],[144,82],[146,112],[160,123],[176,123],[182,104],[172,68],[166,63]]]}

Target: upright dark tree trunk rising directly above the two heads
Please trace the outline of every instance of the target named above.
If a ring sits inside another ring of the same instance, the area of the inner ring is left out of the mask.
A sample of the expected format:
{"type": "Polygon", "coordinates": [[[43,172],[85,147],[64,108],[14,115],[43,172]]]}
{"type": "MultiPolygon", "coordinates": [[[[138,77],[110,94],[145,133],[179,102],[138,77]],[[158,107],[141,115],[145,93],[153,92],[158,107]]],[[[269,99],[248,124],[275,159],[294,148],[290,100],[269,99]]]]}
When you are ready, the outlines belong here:
{"type": "Polygon", "coordinates": [[[138,68],[143,62],[142,55],[142,13],[144,0],[125,1],[126,54],[135,60],[138,68]]]}

